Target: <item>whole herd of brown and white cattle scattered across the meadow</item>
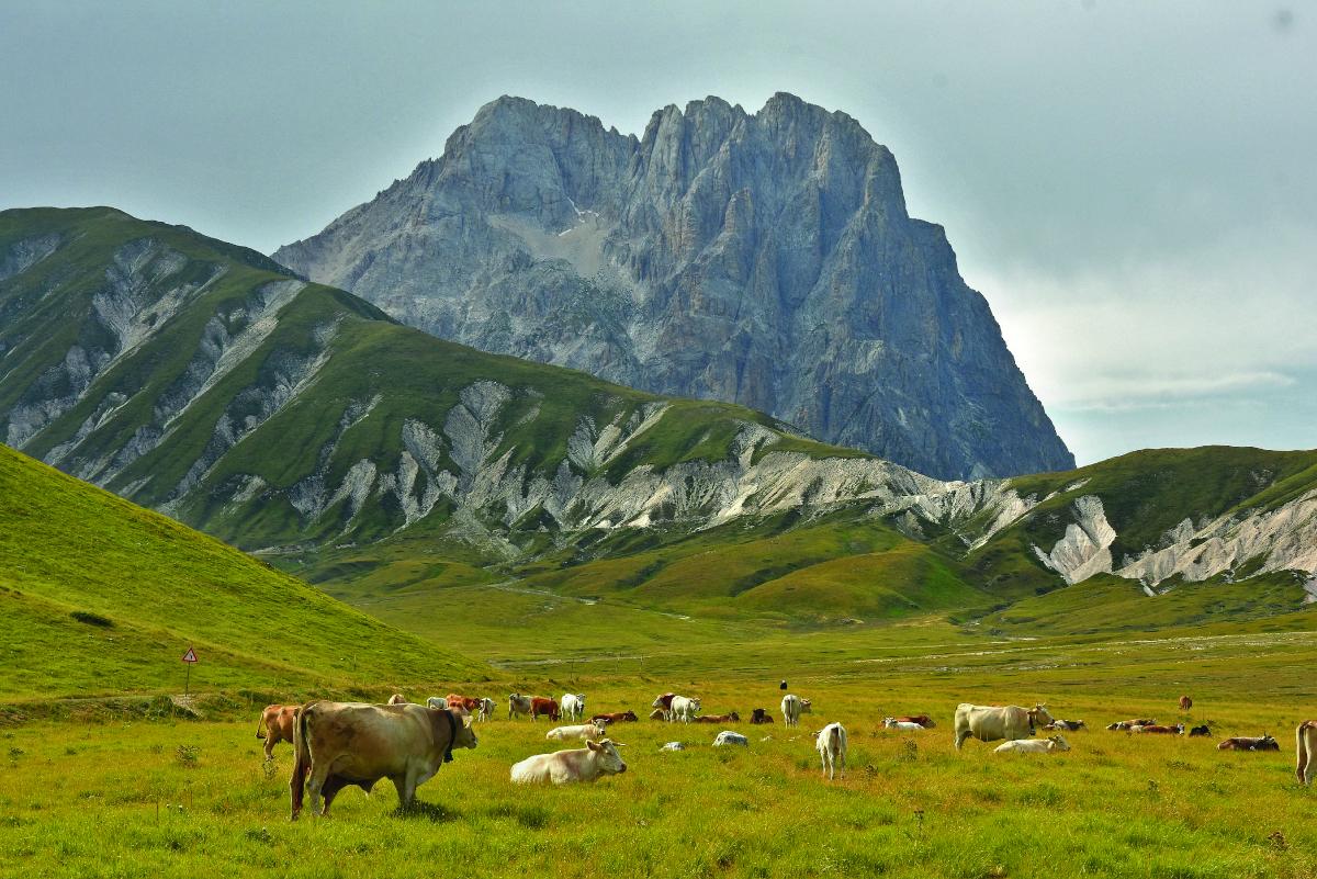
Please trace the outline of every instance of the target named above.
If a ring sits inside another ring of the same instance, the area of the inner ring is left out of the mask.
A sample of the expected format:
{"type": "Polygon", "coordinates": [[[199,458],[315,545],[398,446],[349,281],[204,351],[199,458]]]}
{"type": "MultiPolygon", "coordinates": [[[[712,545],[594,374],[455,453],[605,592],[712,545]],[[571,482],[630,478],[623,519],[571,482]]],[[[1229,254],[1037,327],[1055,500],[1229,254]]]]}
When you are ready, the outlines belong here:
{"type": "MultiPolygon", "coordinates": [[[[785,683],[785,682],[784,682],[785,683]]],[[[1180,709],[1188,711],[1193,700],[1180,697],[1180,709]]],[[[427,782],[439,768],[453,759],[454,749],[475,747],[473,729],[475,721],[489,721],[494,717],[497,703],[493,699],[477,699],[449,693],[446,697],[431,696],[424,705],[410,703],[402,693],[392,695],[383,705],[366,703],[312,701],[306,705],[269,705],[257,721],[255,737],[265,740],[265,757],[273,759],[274,746],[290,742],[294,751],[290,799],[292,818],[309,800],[313,815],[328,815],[335,796],[344,787],[356,786],[370,792],[383,778],[398,788],[402,808],[414,804],[416,787],[427,782]],[[323,800],[323,805],[321,805],[323,800]]],[[[669,724],[739,724],[740,715],[735,711],[726,715],[703,715],[698,697],[677,693],[662,693],[653,700],[651,720],[669,724]]],[[[566,784],[573,782],[595,782],[605,775],[627,771],[619,747],[622,742],[608,737],[608,729],[615,724],[635,722],[633,711],[605,712],[591,715],[585,720],[585,693],[565,693],[554,700],[543,696],[512,693],[507,699],[508,720],[540,717],[557,722],[560,720],[579,721],[554,726],[545,734],[551,742],[583,742],[585,747],[533,754],[514,763],[511,780],[515,784],[566,784]]],[[[801,715],[813,713],[809,699],[794,693],[782,696],[781,715],[786,726],[799,726],[801,715]]],[[[772,724],[773,716],[766,708],[751,712],[752,725],[772,724]]],[[[928,715],[906,715],[885,717],[882,726],[897,730],[925,730],[934,724],[928,715]]],[[[1035,737],[1038,730],[1077,732],[1085,730],[1083,720],[1060,720],[1052,717],[1044,704],[1033,708],[1019,705],[972,705],[956,707],[955,746],[960,750],[964,742],[975,738],[982,742],[1002,742],[994,751],[998,754],[1051,754],[1068,751],[1069,743],[1063,736],[1035,737]]],[[[1162,725],[1151,717],[1121,720],[1106,726],[1108,730],[1126,732],[1139,736],[1212,736],[1206,725],[1187,729],[1185,725],[1162,725]]],[[[842,724],[832,722],[818,733],[811,733],[823,774],[828,779],[840,771],[846,778],[847,733],[842,724]]],[[[1313,751],[1317,750],[1317,720],[1309,720],[1295,730],[1296,770],[1301,784],[1310,784],[1317,774],[1313,751]]],[[[712,745],[749,745],[749,740],[735,730],[722,730],[714,737],[712,745]]],[[[1279,751],[1280,743],[1271,736],[1231,737],[1217,745],[1221,750],[1279,751]]],[[[664,751],[685,750],[682,742],[668,742],[664,751]]]]}

